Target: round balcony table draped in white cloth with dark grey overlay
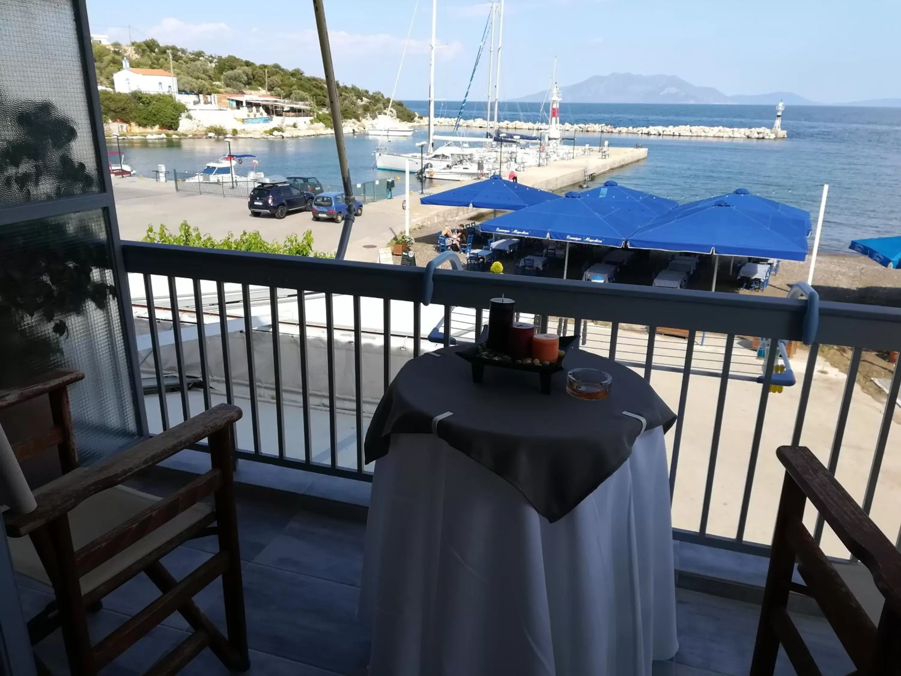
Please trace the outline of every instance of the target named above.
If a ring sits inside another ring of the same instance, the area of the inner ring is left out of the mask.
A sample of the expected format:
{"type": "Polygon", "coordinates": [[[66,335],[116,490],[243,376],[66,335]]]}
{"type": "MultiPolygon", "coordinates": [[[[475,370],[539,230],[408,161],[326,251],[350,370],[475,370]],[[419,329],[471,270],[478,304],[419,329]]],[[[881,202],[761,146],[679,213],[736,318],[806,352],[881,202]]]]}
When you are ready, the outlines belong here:
{"type": "Polygon", "coordinates": [[[550,396],[531,373],[487,370],[477,385],[458,350],[408,362],[369,425],[369,676],[650,676],[678,651],[675,416],[595,354],[567,360],[613,375],[602,401],[569,397],[565,372],[550,396]],[[574,489],[601,467],[599,485],[574,489]]]}

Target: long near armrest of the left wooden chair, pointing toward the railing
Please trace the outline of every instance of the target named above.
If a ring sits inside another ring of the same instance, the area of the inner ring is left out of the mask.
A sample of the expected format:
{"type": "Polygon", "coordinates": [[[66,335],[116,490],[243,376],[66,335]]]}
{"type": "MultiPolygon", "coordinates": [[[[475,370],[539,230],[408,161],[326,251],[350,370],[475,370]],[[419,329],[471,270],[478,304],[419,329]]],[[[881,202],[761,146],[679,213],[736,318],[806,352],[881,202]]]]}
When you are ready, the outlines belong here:
{"type": "Polygon", "coordinates": [[[220,404],[108,460],[72,470],[35,491],[38,507],[32,512],[5,515],[6,533],[13,537],[31,533],[35,528],[67,514],[86,498],[119,485],[141,470],[166,460],[240,418],[240,408],[220,404]]]}

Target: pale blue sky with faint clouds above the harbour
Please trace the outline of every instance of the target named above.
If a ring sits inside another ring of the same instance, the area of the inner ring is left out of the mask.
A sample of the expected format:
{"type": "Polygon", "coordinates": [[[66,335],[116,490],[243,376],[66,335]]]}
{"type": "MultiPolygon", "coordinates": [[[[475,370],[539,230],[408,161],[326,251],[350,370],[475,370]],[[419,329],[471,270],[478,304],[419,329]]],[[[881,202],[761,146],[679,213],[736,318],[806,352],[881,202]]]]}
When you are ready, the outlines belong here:
{"type": "MultiPolygon", "coordinates": [[[[325,0],[337,78],[387,96],[397,79],[398,98],[427,98],[431,5],[325,0]]],[[[131,26],[134,41],[153,37],[321,76],[312,0],[252,6],[87,0],[91,32],[111,40],[128,41],[131,26]]],[[[487,2],[439,0],[437,99],[463,96],[487,17],[487,2]]],[[[564,86],[630,72],[676,75],[727,95],[787,91],[822,103],[901,97],[899,27],[899,0],[505,0],[500,95],[546,90],[556,57],[564,86]]],[[[470,99],[487,96],[487,63],[486,46],[470,99]]]]}

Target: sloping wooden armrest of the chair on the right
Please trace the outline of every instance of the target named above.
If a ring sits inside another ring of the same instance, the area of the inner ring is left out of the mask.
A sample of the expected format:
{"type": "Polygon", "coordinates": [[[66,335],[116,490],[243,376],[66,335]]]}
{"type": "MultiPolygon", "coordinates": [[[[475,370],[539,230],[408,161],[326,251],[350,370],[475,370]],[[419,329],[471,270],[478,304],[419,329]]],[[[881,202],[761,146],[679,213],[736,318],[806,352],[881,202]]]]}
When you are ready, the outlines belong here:
{"type": "Polygon", "coordinates": [[[901,614],[901,552],[810,449],[780,446],[776,455],[842,544],[867,567],[887,604],[901,614]]]}

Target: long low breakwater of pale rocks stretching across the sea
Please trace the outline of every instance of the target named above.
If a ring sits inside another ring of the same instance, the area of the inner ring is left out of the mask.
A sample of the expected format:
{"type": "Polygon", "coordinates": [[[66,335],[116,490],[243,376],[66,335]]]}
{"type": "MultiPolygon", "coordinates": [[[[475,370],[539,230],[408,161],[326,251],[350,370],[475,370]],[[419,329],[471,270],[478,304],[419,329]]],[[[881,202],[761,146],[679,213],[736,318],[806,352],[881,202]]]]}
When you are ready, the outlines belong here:
{"type": "MultiPolygon", "coordinates": [[[[441,127],[444,126],[453,126],[455,122],[455,118],[451,117],[436,117],[435,124],[441,127]]],[[[428,118],[418,118],[416,125],[424,125],[428,124],[428,118]]],[[[488,124],[485,120],[481,118],[476,118],[474,120],[461,120],[461,127],[467,128],[481,128],[487,129],[488,124]]],[[[545,123],[531,123],[531,122],[502,122],[499,124],[500,128],[503,130],[509,130],[516,132],[517,130],[523,132],[540,132],[544,129],[548,128],[548,125],[545,123]]],[[[706,127],[706,126],[696,126],[694,124],[681,124],[679,126],[651,126],[651,127],[614,127],[610,124],[603,123],[585,123],[585,124],[561,124],[560,129],[563,132],[563,135],[566,136],[568,132],[585,132],[585,133],[623,133],[623,134],[636,134],[639,136],[687,136],[687,137],[695,137],[695,138],[708,138],[708,139],[761,139],[761,140],[775,140],[775,139],[784,139],[787,136],[787,133],[784,129],[780,129],[778,132],[772,129],[768,129],[767,127],[706,127]]]]}

